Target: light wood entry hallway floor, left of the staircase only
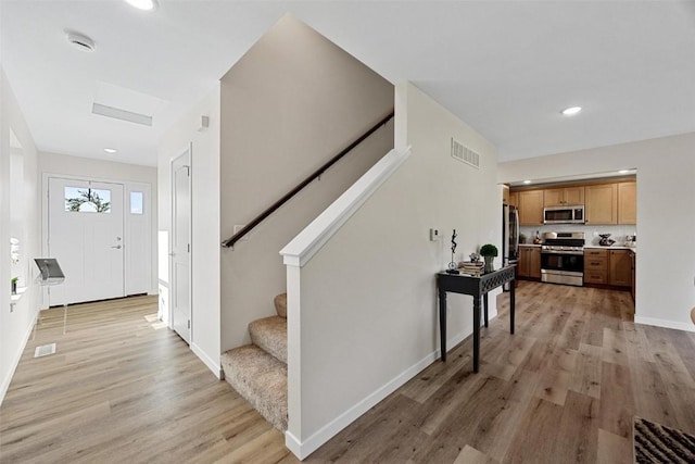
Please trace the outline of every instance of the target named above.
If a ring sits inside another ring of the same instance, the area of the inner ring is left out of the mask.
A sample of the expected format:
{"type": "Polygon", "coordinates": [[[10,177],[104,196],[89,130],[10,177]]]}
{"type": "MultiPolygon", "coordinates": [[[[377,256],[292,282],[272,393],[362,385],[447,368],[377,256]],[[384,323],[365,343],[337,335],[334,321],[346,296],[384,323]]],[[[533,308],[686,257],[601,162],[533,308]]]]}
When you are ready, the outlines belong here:
{"type": "Polygon", "coordinates": [[[288,456],[282,434],[155,317],[156,297],[75,305],[63,335],[63,310],[43,312],[0,409],[0,462],[288,456]],[[33,358],[50,342],[55,354],[33,358]]]}

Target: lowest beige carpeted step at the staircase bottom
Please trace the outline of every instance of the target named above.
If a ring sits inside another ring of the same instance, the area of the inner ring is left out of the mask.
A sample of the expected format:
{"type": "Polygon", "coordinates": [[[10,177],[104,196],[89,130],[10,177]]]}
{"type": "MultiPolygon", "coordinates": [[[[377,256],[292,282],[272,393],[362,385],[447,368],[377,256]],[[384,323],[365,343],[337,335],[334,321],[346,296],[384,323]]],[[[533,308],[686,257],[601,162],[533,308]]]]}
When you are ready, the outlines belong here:
{"type": "Polygon", "coordinates": [[[253,344],[223,353],[225,379],[275,428],[287,430],[287,364],[253,344]]]}

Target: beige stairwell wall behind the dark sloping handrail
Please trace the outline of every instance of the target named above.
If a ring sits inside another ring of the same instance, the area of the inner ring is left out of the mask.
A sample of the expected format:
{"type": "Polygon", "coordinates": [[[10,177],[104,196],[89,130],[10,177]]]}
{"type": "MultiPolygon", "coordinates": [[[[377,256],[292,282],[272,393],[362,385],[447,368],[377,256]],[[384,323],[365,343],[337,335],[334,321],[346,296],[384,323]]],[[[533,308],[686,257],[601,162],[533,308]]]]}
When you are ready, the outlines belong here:
{"type": "MultiPolygon", "coordinates": [[[[292,16],[222,78],[222,236],[294,188],[393,108],[393,86],[292,16]]],[[[279,250],[393,148],[379,129],[222,256],[222,348],[286,291],[279,250]]]]}

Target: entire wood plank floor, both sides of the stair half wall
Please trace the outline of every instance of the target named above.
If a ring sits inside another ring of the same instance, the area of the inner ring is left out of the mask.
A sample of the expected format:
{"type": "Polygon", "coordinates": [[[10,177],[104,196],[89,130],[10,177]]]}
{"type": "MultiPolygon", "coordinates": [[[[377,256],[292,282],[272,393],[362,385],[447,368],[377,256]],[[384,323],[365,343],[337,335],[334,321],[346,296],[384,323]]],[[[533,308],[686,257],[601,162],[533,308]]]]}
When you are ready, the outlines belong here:
{"type": "MultiPolygon", "coordinates": [[[[635,325],[629,292],[521,283],[450,351],[306,462],[630,463],[632,417],[695,434],[695,334],[635,325]]],[[[155,300],[45,317],[0,409],[0,461],[296,462],[166,328],[155,300]],[[56,354],[33,359],[56,341],[56,354]]]]}

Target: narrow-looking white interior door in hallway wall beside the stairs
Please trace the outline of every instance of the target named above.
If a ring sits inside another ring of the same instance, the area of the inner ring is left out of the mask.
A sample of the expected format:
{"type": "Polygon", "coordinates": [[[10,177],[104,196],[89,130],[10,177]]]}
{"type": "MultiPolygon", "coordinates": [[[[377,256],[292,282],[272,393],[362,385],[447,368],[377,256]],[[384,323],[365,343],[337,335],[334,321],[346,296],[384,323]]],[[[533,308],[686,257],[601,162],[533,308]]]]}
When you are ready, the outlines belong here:
{"type": "Polygon", "coordinates": [[[172,163],[172,327],[191,339],[191,170],[190,147],[172,163]]]}

